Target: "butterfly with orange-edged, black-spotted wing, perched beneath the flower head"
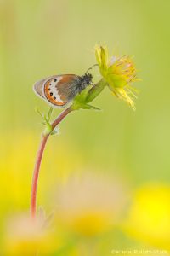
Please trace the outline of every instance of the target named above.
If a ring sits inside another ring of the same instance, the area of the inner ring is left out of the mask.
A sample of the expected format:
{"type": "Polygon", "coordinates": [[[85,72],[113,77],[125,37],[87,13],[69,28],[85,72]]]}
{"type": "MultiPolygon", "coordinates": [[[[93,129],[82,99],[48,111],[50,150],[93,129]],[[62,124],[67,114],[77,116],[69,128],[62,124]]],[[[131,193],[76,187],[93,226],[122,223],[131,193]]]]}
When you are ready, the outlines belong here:
{"type": "Polygon", "coordinates": [[[88,71],[82,76],[76,74],[54,75],[38,81],[33,85],[33,90],[37,96],[42,97],[52,107],[64,108],[88,85],[94,84],[92,79],[93,76],[88,71]]]}

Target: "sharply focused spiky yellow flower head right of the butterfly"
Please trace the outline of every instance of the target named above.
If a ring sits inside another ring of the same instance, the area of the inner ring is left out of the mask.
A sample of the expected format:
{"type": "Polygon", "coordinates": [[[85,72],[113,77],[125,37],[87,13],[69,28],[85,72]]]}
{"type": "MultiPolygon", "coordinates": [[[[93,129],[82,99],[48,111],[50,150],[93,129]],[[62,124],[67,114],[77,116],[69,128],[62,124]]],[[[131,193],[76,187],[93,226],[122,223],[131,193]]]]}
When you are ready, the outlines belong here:
{"type": "Polygon", "coordinates": [[[98,45],[95,47],[95,55],[99,64],[99,71],[111,91],[135,109],[133,102],[133,97],[136,98],[133,93],[135,89],[131,84],[139,79],[136,78],[136,68],[133,60],[127,55],[109,58],[107,48],[98,45]]]}

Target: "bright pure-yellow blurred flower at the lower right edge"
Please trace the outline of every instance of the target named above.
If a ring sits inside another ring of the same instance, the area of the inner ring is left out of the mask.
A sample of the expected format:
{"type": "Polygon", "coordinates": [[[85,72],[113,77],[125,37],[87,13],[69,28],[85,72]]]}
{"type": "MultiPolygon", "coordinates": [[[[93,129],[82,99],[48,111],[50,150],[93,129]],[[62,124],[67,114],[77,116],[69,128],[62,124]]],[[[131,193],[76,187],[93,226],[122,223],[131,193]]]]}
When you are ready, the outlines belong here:
{"type": "Polygon", "coordinates": [[[140,188],[124,229],[140,241],[170,250],[170,187],[150,183],[140,188]]]}

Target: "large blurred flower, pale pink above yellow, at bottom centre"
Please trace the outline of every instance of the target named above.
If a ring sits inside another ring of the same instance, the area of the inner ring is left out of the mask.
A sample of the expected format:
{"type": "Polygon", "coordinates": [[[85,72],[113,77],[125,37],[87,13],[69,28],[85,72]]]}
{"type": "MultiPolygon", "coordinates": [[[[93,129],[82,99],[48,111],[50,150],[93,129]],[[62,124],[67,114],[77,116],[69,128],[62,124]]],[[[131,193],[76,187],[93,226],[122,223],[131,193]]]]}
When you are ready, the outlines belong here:
{"type": "Polygon", "coordinates": [[[56,197],[57,222],[65,230],[96,236],[117,224],[128,195],[120,180],[85,172],[60,186],[56,197]]]}

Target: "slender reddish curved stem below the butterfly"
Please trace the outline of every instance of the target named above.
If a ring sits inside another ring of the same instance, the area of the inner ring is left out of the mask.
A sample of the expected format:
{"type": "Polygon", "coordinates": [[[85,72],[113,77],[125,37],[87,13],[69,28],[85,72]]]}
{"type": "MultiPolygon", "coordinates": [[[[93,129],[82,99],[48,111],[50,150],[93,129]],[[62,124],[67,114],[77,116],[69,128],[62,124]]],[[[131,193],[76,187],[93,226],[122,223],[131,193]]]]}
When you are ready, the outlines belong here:
{"type": "MultiPolygon", "coordinates": [[[[66,108],[62,113],[59,114],[57,119],[54,120],[52,123],[52,131],[54,128],[59,125],[59,123],[62,121],[62,119],[65,118],[65,116],[68,113],[71,113],[73,109],[71,107],[66,108]]],[[[40,171],[40,166],[42,162],[42,155],[46,146],[46,143],[48,141],[50,133],[47,135],[42,134],[42,141],[39,145],[39,149],[37,151],[37,159],[34,166],[34,172],[32,177],[32,183],[31,183],[31,218],[36,218],[36,205],[37,205],[37,182],[38,182],[38,176],[40,171]]]]}

